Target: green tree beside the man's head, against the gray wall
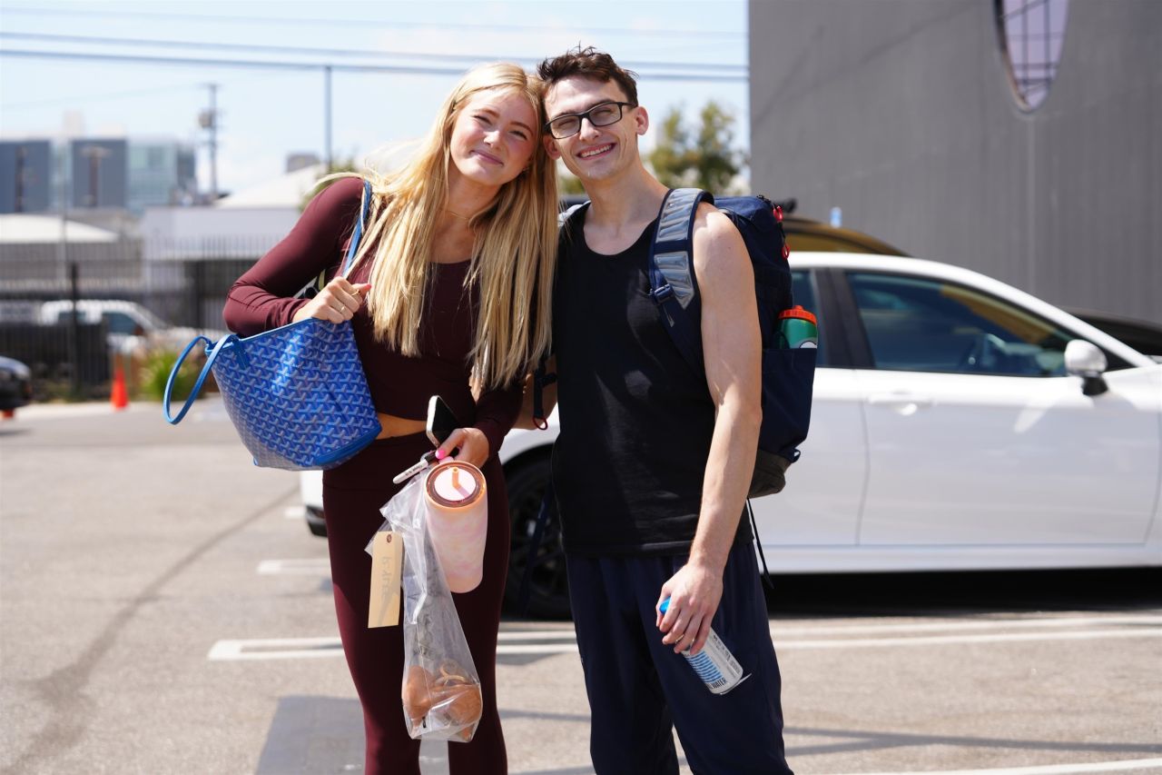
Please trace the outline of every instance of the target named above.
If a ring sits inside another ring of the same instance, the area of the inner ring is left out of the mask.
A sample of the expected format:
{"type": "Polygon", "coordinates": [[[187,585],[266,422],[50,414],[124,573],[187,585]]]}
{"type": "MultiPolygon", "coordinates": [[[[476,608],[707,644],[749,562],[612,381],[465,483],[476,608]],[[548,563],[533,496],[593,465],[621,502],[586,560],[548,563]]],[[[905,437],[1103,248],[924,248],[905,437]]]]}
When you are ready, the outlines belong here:
{"type": "Polygon", "coordinates": [[[658,145],[648,161],[667,186],[697,186],[716,193],[731,191],[746,158],[734,145],[734,116],[710,100],[698,115],[697,133],[682,120],[680,108],[662,119],[658,145]]]}

